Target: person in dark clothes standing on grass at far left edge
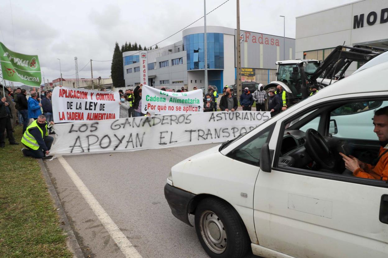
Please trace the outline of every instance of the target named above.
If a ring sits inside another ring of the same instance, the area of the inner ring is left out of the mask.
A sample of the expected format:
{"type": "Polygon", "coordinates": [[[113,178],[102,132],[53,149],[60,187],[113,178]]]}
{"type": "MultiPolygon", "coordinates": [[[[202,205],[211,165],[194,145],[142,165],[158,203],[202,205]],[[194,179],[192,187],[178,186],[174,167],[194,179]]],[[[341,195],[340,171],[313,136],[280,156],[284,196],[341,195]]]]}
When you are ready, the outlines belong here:
{"type": "Polygon", "coordinates": [[[15,138],[12,133],[11,118],[12,113],[9,109],[9,101],[7,101],[7,98],[0,96],[0,148],[5,147],[5,130],[7,130],[9,144],[18,145],[18,143],[15,142],[15,138]]]}

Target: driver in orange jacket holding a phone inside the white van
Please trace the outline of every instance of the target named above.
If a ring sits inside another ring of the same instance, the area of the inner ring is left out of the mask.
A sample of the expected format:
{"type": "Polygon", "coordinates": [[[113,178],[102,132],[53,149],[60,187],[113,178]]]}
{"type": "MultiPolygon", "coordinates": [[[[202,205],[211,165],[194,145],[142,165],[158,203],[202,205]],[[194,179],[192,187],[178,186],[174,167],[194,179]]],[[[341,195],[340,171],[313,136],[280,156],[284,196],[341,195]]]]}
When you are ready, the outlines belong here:
{"type": "Polygon", "coordinates": [[[380,141],[378,161],[375,166],[364,163],[353,156],[340,153],[345,167],[353,171],[355,177],[388,180],[388,106],[378,109],[373,117],[374,130],[380,141]]]}

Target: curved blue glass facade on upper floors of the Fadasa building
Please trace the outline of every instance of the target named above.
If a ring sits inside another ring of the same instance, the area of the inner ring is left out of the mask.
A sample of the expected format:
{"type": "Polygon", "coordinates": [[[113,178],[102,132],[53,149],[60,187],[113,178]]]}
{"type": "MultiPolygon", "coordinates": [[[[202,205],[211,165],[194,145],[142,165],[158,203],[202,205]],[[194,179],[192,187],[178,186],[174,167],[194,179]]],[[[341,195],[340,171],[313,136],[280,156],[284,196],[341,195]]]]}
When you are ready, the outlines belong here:
{"type": "MultiPolygon", "coordinates": [[[[208,69],[223,69],[223,34],[206,33],[208,69]]],[[[205,69],[203,33],[183,37],[187,52],[187,70],[205,69]]]]}

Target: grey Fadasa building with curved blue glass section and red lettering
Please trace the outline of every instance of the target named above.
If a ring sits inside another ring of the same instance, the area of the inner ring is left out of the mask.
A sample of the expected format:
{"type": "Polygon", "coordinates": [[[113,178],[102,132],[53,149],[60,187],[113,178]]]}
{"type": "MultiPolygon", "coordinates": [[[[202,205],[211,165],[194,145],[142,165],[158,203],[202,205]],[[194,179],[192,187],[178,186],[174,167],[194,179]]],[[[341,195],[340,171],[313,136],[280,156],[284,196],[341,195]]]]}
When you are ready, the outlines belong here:
{"type": "MultiPolygon", "coordinates": [[[[207,66],[210,85],[222,88],[236,80],[236,29],[207,26],[207,66]]],[[[275,62],[295,58],[295,40],[243,31],[241,67],[251,68],[243,80],[267,84],[275,80],[275,62]]],[[[152,87],[191,90],[204,86],[204,27],[182,31],[182,40],[157,49],[123,52],[125,88],[140,83],[152,87]]]]}

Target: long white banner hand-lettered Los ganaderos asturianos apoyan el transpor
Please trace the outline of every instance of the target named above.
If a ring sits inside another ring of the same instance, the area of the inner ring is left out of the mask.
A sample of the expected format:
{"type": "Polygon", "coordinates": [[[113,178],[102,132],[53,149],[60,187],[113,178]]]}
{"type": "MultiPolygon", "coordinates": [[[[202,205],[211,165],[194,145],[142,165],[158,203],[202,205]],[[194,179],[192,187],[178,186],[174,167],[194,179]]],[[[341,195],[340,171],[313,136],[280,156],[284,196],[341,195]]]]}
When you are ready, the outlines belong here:
{"type": "Polygon", "coordinates": [[[270,112],[204,112],[54,125],[51,154],[137,151],[224,142],[270,118],[270,112]]]}

